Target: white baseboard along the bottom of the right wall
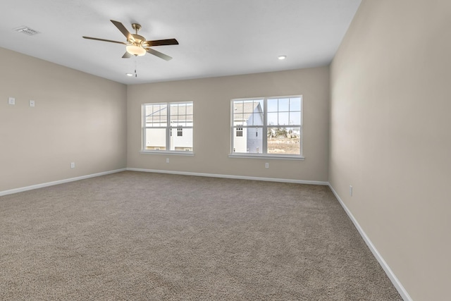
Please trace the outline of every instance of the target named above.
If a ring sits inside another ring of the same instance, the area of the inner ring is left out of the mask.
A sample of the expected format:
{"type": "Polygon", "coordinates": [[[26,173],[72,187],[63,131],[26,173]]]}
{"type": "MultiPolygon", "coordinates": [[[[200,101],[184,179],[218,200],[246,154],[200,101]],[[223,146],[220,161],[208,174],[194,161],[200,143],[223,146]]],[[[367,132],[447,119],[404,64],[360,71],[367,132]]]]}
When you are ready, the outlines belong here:
{"type": "Polygon", "coordinates": [[[412,301],[412,298],[409,296],[409,293],[407,293],[407,290],[402,286],[400,280],[395,276],[395,273],[393,273],[392,269],[390,269],[390,266],[388,266],[387,262],[383,259],[381,253],[378,252],[376,247],[373,245],[373,242],[369,239],[369,237],[366,235],[365,231],[362,229],[362,227],[357,222],[357,219],[354,218],[352,215],[350,209],[347,209],[345,203],[342,201],[338,193],[333,189],[332,185],[328,183],[328,186],[330,190],[332,190],[335,197],[338,199],[338,202],[340,202],[343,209],[345,209],[345,212],[347,216],[351,219],[352,223],[354,223],[355,228],[357,228],[357,231],[359,231],[360,236],[364,239],[366,242],[366,245],[368,245],[369,250],[373,253],[373,256],[376,257],[379,264],[381,264],[382,269],[385,271],[385,274],[387,274],[388,278],[390,278],[390,281],[392,281],[393,285],[395,286],[398,293],[400,293],[402,299],[404,301],[412,301]]]}

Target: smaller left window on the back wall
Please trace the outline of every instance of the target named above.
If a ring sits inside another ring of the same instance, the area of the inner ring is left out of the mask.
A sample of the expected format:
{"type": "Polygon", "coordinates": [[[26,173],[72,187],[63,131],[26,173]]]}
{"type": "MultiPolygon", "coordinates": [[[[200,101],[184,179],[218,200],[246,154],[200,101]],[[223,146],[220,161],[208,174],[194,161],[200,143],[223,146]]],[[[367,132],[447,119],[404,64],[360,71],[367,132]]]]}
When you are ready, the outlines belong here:
{"type": "Polygon", "coordinates": [[[192,102],[143,104],[142,114],[143,152],[192,153],[192,102]]]}

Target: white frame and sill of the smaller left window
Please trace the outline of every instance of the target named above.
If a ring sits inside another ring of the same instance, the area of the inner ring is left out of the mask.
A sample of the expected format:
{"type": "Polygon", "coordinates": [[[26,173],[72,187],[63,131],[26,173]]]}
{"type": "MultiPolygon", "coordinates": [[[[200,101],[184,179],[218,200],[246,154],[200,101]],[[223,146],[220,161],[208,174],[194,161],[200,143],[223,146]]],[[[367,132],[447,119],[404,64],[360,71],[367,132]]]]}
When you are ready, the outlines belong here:
{"type": "MultiPolygon", "coordinates": [[[[141,143],[141,153],[142,154],[178,154],[183,156],[193,156],[194,155],[194,130],[192,131],[192,151],[189,149],[183,150],[171,150],[171,135],[175,135],[178,137],[179,129],[194,129],[194,102],[156,102],[156,103],[146,103],[142,104],[141,107],[141,115],[142,115],[142,143],[141,143]],[[192,126],[180,126],[180,125],[171,125],[171,105],[173,104],[191,104],[193,106],[192,113],[192,126]],[[146,125],[146,106],[149,105],[166,105],[166,126],[161,127],[148,127],[146,125]],[[146,130],[148,128],[164,128],[166,130],[166,149],[146,149],[146,130]]],[[[185,131],[183,131],[185,132],[185,131]]],[[[183,133],[183,135],[186,135],[183,133]]]]}

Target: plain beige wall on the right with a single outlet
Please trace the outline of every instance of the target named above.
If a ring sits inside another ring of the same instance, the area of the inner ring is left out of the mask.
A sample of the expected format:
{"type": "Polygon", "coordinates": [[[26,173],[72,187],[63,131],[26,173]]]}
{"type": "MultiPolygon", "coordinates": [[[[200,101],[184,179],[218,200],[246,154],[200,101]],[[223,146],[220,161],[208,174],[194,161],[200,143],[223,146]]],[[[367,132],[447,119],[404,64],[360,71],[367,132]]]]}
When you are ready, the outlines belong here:
{"type": "Polygon", "coordinates": [[[450,30],[451,1],[364,0],[330,67],[330,184],[416,301],[450,300],[450,30]]]}

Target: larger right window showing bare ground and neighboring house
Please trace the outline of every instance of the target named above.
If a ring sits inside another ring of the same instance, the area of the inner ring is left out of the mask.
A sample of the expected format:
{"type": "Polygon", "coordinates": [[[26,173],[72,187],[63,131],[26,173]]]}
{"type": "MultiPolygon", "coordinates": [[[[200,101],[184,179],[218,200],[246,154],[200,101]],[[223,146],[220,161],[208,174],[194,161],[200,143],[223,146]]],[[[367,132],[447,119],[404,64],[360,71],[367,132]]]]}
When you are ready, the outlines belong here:
{"type": "Polygon", "coordinates": [[[231,156],[302,159],[302,97],[233,99],[231,156]]]}

